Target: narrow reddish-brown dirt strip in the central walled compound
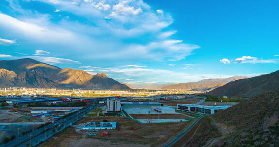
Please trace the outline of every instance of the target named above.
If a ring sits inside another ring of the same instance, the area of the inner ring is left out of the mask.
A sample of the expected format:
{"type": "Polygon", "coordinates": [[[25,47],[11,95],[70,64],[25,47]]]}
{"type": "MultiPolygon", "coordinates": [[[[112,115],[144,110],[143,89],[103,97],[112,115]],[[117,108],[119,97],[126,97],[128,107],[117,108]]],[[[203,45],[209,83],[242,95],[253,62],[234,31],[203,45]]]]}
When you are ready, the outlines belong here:
{"type": "Polygon", "coordinates": [[[180,119],[180,118],[189,118],[181,114],[131,114],[131,117],[135,119],[180,119]]]}

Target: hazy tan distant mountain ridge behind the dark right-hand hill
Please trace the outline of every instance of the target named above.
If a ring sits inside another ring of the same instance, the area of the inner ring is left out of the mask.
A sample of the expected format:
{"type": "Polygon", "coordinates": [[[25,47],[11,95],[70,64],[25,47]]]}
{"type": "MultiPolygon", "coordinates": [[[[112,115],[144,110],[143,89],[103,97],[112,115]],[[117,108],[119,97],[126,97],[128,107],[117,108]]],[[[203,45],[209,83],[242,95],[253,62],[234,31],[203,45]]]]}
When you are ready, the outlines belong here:
{"type": "Polygon", "coordinates": [[[198,82],[188,82],[171,84],[169,86],[164,86],[162,89],[186,89],[186,90],[212,90],[223,86],[229,82],[248,78],[247,76],[233,76],[229,78],[216,78],[216,79],[204,79],[198,82]]]}

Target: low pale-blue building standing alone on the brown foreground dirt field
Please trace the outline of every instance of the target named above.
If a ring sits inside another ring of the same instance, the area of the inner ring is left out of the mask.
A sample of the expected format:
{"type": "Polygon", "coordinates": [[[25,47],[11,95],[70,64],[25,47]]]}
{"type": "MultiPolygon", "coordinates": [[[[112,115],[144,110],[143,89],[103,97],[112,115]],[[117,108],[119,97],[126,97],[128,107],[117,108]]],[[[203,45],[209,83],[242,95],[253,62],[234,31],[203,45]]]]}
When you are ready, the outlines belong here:
{"type": "Polygon", "coordinates": [[[116,122],[87,122],[81,128],[82,130],[113,130],[116,129],[117,123],[116,122]]]}

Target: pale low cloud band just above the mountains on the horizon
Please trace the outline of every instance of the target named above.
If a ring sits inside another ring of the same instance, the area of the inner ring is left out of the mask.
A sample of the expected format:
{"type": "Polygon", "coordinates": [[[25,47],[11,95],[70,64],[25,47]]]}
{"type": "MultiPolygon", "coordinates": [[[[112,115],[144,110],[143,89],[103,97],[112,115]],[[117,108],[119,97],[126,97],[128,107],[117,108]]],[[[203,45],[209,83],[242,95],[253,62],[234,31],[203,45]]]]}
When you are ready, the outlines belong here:
{"type": "MultiPolygon", "coordinates": [[[[190,82],[207,78],[228,78],[233,76],[225,74],[188,74],[151,68],[103,68],[90,66],[81,66],[79,68],[85,69],[86,71],[93,70],[94,73],[101,73],[106,70],[106,73],[112,78],[137,79],[137,81],[147,81],[150,79],[152,82],[164,83],[190,82]]],[[[199,68],[199,70],[201,69],[199,68]]]]}

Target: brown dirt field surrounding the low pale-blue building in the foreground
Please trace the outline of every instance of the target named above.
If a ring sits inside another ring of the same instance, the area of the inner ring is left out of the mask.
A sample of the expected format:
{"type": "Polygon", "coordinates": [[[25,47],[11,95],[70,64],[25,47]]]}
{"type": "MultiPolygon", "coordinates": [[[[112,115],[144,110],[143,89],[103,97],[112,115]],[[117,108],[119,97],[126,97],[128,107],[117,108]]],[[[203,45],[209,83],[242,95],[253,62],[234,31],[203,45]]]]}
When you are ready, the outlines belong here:
{"type": "Polygon", "coordinates": [[[103,119],[118,122],[119,130],[109,131],[107,137],[100,134],[92,137],[70,127],[39,147],[160,147],[189,123],[140,124],[124,117],[85,117],[76,124],[103,119]]]}

